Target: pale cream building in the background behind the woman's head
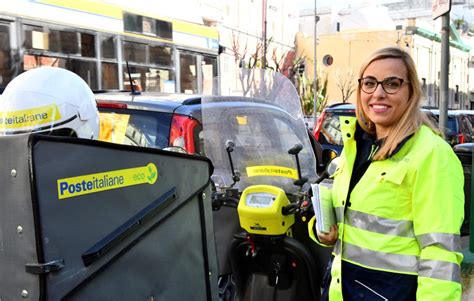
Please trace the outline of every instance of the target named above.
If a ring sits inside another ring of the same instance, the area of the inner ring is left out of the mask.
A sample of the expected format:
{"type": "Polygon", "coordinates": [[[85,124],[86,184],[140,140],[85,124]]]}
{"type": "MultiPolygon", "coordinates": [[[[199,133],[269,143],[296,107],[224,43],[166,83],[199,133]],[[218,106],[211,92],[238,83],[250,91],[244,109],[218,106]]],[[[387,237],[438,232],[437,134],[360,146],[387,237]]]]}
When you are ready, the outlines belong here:
{"type": "MultiPolygon", "coordinates": [[[[425,5],[426,1],[421,2],[420,5],[425,5]]],[[[403,6],[400,5],[401,7],[403,6]]],[[[384,46],[398,46],[409,52],[417,65],[419,80],[424,90],[423,104],[430,107],[439,106],[440,20],[432,22],[426,13],[421,13],[421,10],[415,7],[407,8],[405,14],[393,8],[388,9],[387,6],[321,11],[320,21],[317,24],[321,30],[317,36],[316,65],[324,76],[328,77],[329,102],[342,100],[341,82],[348,77],[352,80],[352,86],[356,87],[359,66],[373,50],[384,46]],[[393,19],[392,14],[413,15],[413,18],[393,19]],[[377,16],[376,19],[380,20],[374,23],[371,16],[377,16]]],[[[300,26],[303,30],[304,24],[307,24],[310,18],[308,15],[307,13],[303,18],[306,23],[303,22],[303,27],[300,26]]],[[[312,58],[313,45],[314,37],[311,33],[301,34],[298,38],[298,54],[312,58]]],[[[469,67],[472,65],[470,51],[471,48],[463,41],[458,30],[451,26],[448,104],[450,109],[470,109],[474,102],[472,80],[470,80],[472,77],[469,76],[472,72],[472,68],[469,67]]],[[[313,60],[308,61],[310,63],[307,64],[309,68],[306,68],[306,72],[311,76],[313,60]]],[[[355,93],[349,100],[355,101],[355,93]]]]}

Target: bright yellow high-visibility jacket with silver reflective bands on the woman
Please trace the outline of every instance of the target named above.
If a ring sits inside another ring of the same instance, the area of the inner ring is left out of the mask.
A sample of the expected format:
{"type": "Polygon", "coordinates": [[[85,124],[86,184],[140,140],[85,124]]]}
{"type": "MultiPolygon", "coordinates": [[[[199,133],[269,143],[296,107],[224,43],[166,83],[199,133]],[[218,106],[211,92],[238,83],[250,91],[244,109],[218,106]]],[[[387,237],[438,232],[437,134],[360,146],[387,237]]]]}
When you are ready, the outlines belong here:
{"type": "MultiPolygon", "coordinates": [[[[393,156],[371,162],[345,207],[357,120],[340,119],[344,148],[331,192],[339,232],[330,300],[342,300],[342,261],[416,275],[417,300],[460,300],[464,178],[459,159],[442,137],[422,126],[393,156]]],[[[313,225],[314,218],[308,228],[318,242],[313,225]]]]}

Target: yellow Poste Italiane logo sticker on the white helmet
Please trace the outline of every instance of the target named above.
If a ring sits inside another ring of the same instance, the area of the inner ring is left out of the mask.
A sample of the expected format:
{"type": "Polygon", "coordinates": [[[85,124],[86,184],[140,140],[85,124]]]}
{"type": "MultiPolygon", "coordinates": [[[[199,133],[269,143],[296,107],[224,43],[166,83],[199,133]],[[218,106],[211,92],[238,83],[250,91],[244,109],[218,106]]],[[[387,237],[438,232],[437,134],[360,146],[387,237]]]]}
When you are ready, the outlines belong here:
{"type": "Polygon", "coordinates": [[[4,129],[26,128],[51,123],[61,119],[57,105],[34,109],[0,112],[0,127],[4,129]]]}

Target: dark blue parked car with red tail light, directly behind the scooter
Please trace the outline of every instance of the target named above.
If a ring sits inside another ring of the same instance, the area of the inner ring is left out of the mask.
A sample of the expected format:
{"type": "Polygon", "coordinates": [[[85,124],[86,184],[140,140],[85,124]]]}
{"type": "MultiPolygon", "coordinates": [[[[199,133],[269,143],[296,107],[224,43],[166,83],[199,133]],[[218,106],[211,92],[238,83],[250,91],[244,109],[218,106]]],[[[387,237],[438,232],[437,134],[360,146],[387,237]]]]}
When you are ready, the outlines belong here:
{"type": "MultiPolygon", "coordinates": [[[[205,155],[202,145],[201,96],[144,92],[96,93],[102,141],[135,146],[181,149],[205,155]]],[[[308,131],[317,172],[324,170],[322,149],[308,131]]]]}

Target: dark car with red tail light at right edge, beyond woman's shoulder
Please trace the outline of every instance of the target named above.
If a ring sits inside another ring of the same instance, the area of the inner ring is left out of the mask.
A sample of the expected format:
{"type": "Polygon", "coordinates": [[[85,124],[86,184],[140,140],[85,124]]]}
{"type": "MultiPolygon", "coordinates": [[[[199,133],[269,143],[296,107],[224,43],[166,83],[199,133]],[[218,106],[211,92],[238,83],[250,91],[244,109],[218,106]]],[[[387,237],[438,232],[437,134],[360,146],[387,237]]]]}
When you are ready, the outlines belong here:
{"type": "MultiPolygon", "coordinates": [[[[431,110],[439,122],[439,110],[431,110]]],[[[451,146],[473,141],[473,129],[470,116],[463,111],[448,110],[446,141],[451,146]]]]}

